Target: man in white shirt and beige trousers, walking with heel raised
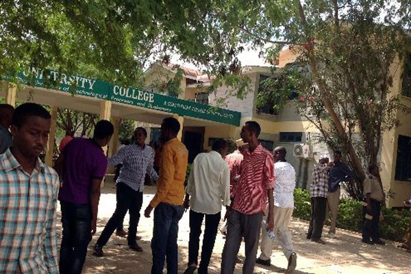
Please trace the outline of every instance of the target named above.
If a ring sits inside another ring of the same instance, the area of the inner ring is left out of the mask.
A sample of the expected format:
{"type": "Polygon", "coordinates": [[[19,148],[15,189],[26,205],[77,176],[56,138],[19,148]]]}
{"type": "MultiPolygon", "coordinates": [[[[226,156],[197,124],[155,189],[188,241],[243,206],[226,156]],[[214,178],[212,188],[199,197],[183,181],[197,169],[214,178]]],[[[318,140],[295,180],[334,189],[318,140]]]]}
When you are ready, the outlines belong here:
{"type": "MultiPolygon", "coordinates": [[[[284,255],[288,260],[287,273],[292,273],[297,265],[297,254],[294,245],[292,245],[291,234],[288,231],[288,225],[291,221],[292,211],[294,210],[294,188],[295,188],[295,170],[286,162],[285,147],[276,147],[274,149],[274,229],[279,244],[282,246],[284,255]]],[[[267,214],[269,209],[267,208],[267,214]]],[[[266,219],[266,217],[264,217],[266,219]]],[[[257,264],[266,266],[271,265],[271,254],[273,253],[274,239],[269,236],[265,225],[261,227],[261,244],[260,258],[256,260],[257,264]]]]}

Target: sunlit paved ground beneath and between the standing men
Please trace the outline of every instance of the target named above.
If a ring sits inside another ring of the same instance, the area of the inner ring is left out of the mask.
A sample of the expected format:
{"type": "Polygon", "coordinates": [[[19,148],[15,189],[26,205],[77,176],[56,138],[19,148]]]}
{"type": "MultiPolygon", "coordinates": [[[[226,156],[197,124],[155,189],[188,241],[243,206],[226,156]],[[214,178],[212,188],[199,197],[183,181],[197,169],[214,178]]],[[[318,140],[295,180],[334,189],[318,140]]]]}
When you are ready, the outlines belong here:
{"type": "MultiPolygon", "coordinates": [[[[145,188],[141,212],[146,208],[154,192],[153,186],[145,188]]],[[[100,199],[97,236],[94,236],[90,243],[84,273],[150,273],[150,240],[153,220],[144,216],[141,217],[138,225],[138,235],[142,236],[142,240],[138,243],[144,252],[131,251],[128,249],[125,239],[113,235],[104,248],[105,256],[103,258],[92,256],[91,247],[114,212],[115,204],[114,185],[106,183],[100,199]]],[[[125,224],[127,224],[128,216],[126,218],[125,224]]],[[[60,226],[59,229],[61,229],[60,226]]],[[[387,241],[387,245],[384,247],[365,245],[360,242],[360,234],[338,229],[336,238],[324,238],[327,245],[320,245],[306,240],[307,229],[308,223],[306,221],[295,219],[291,223],[292,238],[298,254],[295,274],[411,273],[411,254],[406,253],[403,249],[398,249],[395,242],[387,241]]],[[[186,213],[179,223],[179,272],[181,273],[184,272],[188,259],[188,233],[188,213],[186,213]]],[[[209,273],[219,273],[224,242],[223,235],[217,235],[209,273]]],[[[240,258],[244,255],[243,252],[244,247],[242,246],[240,258]]],[[[280,249],[273,252],[271,264],[270,267],[256,265],[255,273],[284,273],[287,262],[280,249]]],[[[242,264],[237,264],[235,273],[241,273],[241,267],[242,264]]]]}

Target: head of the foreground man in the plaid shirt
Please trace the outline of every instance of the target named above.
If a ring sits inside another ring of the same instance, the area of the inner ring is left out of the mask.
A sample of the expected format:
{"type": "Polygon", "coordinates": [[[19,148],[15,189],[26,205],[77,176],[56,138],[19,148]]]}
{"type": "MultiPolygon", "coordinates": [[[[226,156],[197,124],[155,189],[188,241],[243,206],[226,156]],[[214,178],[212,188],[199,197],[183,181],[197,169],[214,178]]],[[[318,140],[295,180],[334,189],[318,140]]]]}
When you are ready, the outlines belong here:
{"type": "Polygon", "coordinates": [[[13,151],[25,158],[37,158],[49,140],[51,115],[37,103],[23,103],[14,110],[11,132],[13,151]]]}

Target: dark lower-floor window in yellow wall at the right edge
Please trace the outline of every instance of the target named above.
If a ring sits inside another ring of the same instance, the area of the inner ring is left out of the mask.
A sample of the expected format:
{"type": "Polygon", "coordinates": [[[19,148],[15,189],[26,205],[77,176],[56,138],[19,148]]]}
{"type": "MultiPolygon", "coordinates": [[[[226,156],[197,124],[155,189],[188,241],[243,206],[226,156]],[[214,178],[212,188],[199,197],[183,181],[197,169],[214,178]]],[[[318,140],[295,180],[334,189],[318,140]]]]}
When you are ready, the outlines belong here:
{"type": "Polygon", "coordinates": [[[395,179],[411,181],[411,137],[399,135],[395,179]]]}

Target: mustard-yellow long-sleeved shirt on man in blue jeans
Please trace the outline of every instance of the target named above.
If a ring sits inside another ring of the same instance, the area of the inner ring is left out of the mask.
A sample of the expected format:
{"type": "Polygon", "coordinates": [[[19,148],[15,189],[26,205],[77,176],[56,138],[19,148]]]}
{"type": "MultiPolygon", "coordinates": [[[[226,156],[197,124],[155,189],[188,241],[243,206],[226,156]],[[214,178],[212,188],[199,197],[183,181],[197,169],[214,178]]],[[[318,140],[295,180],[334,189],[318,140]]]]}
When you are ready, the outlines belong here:
{"type": "Polygon", "coordinates": [[[151,207],[155,208],[159,203],[182,206],[187,164],[186,146],[177,138],[167,141],[162,149],[157,192],[150,202],[151,207]]]}

